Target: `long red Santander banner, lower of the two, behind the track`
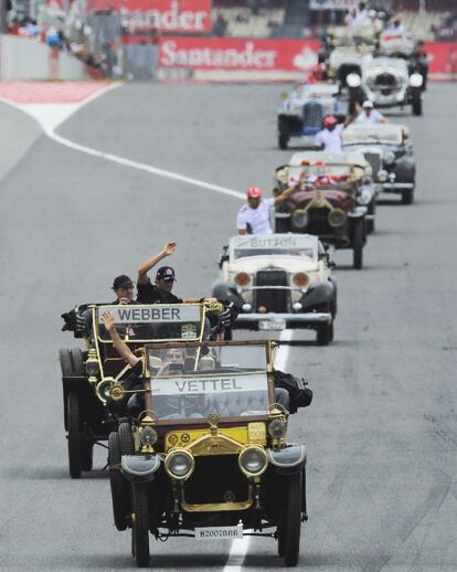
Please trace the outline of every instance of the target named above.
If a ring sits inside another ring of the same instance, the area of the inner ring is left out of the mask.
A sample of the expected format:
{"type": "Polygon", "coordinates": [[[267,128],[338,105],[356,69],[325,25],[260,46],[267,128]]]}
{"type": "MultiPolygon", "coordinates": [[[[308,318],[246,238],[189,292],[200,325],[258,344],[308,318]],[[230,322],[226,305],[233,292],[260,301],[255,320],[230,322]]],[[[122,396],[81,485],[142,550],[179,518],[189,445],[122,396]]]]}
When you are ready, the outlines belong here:
{"type": "Polygon", "coordinates": [[[319,41],[167,36],[159,46],[161,68],[305,72],[319,41]]]}

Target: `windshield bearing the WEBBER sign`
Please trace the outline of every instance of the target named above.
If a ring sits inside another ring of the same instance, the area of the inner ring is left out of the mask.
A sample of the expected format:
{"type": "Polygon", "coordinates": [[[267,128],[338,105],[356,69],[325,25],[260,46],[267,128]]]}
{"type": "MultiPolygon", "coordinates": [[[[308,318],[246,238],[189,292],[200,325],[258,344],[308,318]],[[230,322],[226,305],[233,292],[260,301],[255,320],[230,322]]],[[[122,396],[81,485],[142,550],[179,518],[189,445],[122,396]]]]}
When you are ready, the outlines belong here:
{"type": "Polygon", "coordinates": [[[103,322],[109,311],[125,341],[199,340],[203,335],[203,308],[199,304],[116,305],[96,308],[98,340],[110,341],[103,322]]]}

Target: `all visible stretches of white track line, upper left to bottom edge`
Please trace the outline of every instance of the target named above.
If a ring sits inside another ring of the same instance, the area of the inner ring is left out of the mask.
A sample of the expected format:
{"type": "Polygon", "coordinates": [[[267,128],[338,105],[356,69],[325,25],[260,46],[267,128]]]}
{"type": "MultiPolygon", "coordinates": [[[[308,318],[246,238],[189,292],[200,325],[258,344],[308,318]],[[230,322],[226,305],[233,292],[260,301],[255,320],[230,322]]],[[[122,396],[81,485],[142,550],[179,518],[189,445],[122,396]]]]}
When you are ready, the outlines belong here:
{"type": "MultiPolygon", "coordinates": [[[[20,109],[21,112],[26,113],[31,117],[33,117],[42,127],[44,134],[52,140],[68,147],[70,149],[74,149],[75,151],[84,152],[86,155],[92,155],[93,157],[99,157],[100,159],[105,159],[107,161],[116,162],[118,165],[123,165],[124,167],[130,167],[132,169],[138,169],[140,171],[146,171],[150,174],[156,174],[158,177],[164,177],[167,179],[173,179],[176,181],[181,181],[187,184],[193,184],[199,187],[200,189],[208,189],[210,191],[219,192],[221,194],[226,194],[228,197],[234,197],[236,199],[245,200],[245,195],[238,191],[234,191],[233,189],[227,189],[225,187],[221,187],[219,184],[209,183],[205,181],[201,181],[199,179],[193,179],[191,177],[185,177],[184,174],[179,174],[177,172],[167,171],[164,169],[159,169],[158,167],[153,167],[151,165],[146,165],[138,161],[132,161],[131,159],[126,159],[125,157],[119,157],[118,155],[111,155],[104,151],[99,151],[94,149],[93,147],[87,147],[85,145],[79,145],[74,142],[61,135],[55,133],[55,129],[62,125],[66,119],[68,119],[72,115],[78,112],[84,105],[93,102],[97,97],[104,95],[108,89],[114,89],[118,87],[119,84],[114,84],[106,89],[100,89],[100,92],[95,93],[94,95],[87,97],[84,102],[78,104],[62,104],[60,106],[55,106],[55,112],[57,112],[57,117],[53,116],[51,105],[20,105],[9,102],[8,99],[0,98],[3,103],[20,109]],[[49,107],[47,107],[49,105],[49,107]],[[68,105],[67,109],[62,109],[63,105],[68,105]],[[51,113],[50,113],[51,112],[51,113]]],[[[284,330],[280,333],[280,341],[290,341],[293,337],[293,330],[284,330]]],[[[286,361],[289,354],[289,346],[280,346],[276,353],[275,367],[278,370],[286,369],[286,361]]],[[[244,537],[243,539],[233,540],[232,547],[230,549],[228,559],[224,566],[224,572],[240,572],[243,568],[244,559],[247,553],[247,549],[249,545],[251,537],[244,537]]]]}

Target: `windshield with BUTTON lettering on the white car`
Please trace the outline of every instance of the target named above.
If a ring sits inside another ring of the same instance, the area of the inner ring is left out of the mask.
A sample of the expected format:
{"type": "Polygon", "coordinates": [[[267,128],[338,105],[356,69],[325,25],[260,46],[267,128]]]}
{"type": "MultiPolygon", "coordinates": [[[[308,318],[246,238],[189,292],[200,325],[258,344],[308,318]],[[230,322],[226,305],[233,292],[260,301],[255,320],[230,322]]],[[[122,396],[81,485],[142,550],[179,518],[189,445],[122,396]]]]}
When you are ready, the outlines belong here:
{"type": "Polygon", "coordinates": [[[317,259],[316,236],[299,234],[266,234],[234,236],[230,243],[231,262],[252,256],[294,256],[317,259]]]}

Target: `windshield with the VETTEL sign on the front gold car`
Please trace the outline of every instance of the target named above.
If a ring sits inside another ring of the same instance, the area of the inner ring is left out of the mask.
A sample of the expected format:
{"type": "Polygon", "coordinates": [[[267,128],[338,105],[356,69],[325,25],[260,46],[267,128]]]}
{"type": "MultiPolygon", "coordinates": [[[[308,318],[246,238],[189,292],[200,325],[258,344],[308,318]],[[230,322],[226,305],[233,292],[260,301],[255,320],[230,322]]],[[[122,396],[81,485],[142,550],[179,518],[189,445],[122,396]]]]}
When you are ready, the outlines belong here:
{"type": "Polygon", "coordinates": [[[149,347],[151,406],[159,421],[265,415],[265,343],[149,347]]]}

